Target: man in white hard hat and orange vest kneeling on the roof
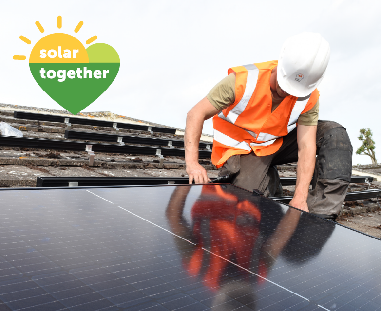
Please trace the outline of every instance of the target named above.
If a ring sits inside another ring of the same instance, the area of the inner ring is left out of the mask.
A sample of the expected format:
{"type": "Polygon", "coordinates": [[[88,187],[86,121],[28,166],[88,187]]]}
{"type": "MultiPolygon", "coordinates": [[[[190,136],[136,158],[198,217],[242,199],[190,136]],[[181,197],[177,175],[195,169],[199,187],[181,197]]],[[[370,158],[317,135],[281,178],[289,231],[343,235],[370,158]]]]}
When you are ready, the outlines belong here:
{"type": "Polygon", "coordinates": [[[212,162],[222,167],[220,176],[229,174],[232,184],[274,196],[281,186],[273,166],[298,161],[290,205],[334,220],[350,182],[352,146],[340,124],[318,121],[317,87],[329,56],[320,34],[304,32],[286,40],[279,61],[230,68],[187,114],[190,183],[209,181],[198,164],[198,143],[203,122],[214,116],[212,162]]]}

